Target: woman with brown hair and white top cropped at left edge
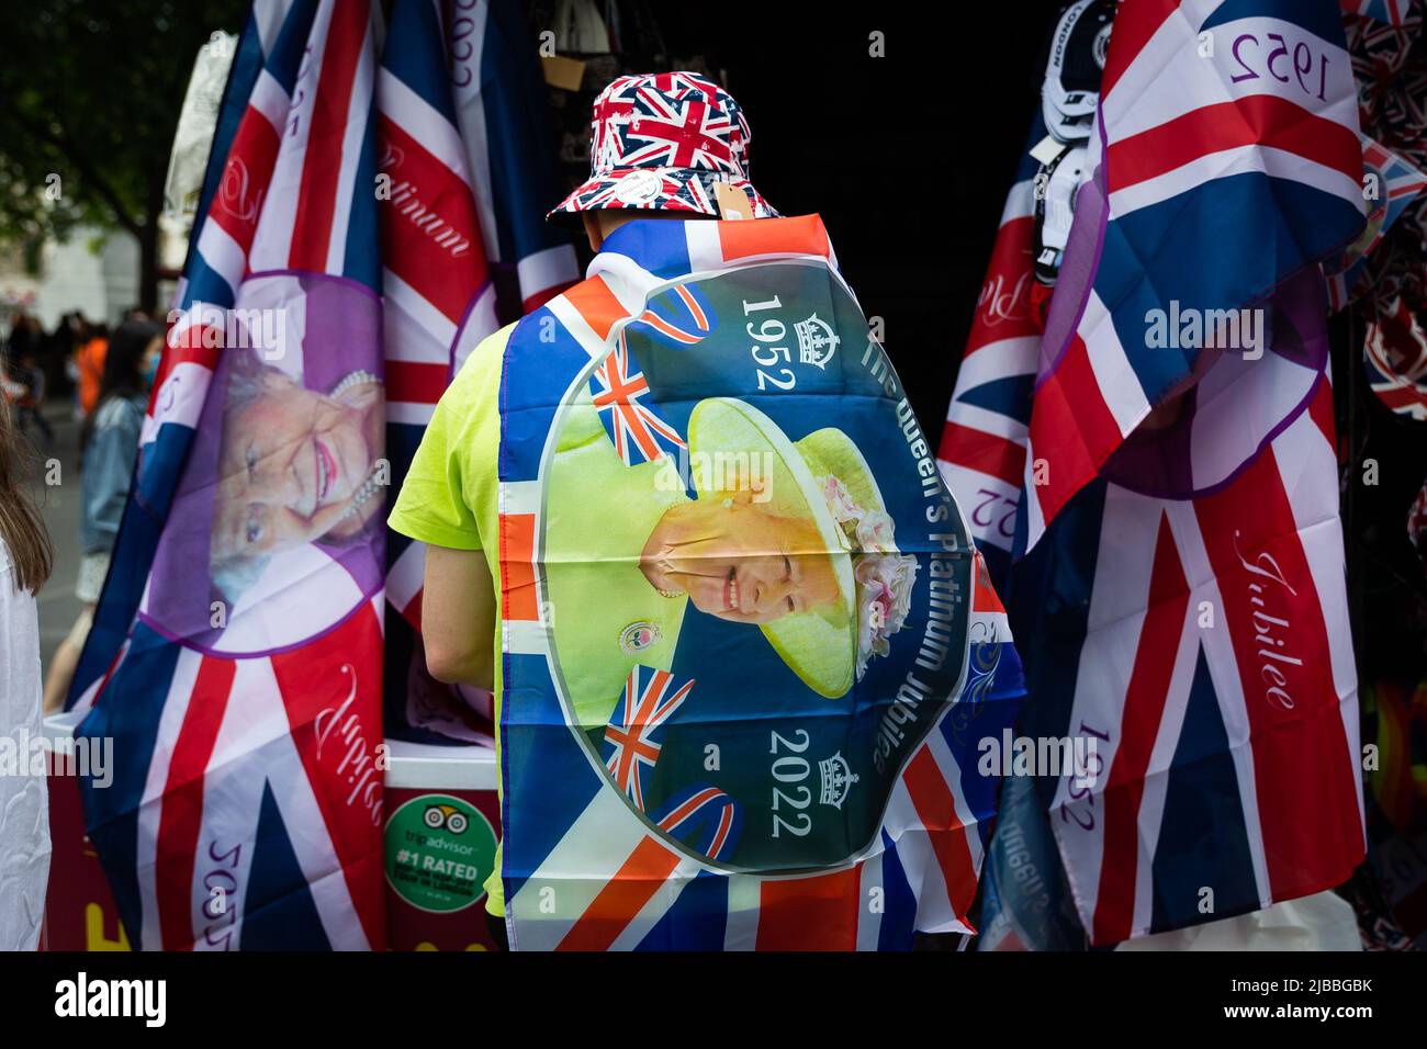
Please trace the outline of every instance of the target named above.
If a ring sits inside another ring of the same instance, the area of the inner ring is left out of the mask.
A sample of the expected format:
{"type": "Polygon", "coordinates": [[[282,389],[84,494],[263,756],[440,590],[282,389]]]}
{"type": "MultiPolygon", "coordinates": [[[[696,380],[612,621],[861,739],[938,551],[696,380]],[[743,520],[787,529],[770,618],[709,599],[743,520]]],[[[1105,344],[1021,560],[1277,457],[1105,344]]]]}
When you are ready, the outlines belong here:
{"type": "Polygon", "coordinates": [[[14,775],[0,775],[0,951],[39,943],[50,875],[49,794],[44,776],[30,775],[30,741],[40,735],[34,594],[50,575],[53,548],[24,484],[26,458],[0,398],[0,736],[17,759],[14,775]]]}

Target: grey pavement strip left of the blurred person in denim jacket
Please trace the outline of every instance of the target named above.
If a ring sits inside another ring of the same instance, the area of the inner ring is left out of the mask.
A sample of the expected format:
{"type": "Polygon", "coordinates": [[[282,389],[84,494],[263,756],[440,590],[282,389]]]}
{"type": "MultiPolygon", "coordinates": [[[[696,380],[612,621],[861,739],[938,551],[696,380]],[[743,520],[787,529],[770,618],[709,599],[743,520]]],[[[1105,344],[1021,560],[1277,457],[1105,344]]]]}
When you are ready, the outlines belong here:
{"type": "Polygon", "coordinates": [[[80,614],[80,602],[74,597],[80,571],[80,424],[74,421],[68,404],[46,405],[44,417],[54,430],[54,444],[46,444],[33,428],[27,437],[40,454],[40,468],[31,475],[31,487],[54,541],[54,572],[39,595],[40,657],[49,671],[54,647],[70,632],[80,614]],[[60,461],[60,484],[56,485],[44,482],[50,460],[60,461]]]}

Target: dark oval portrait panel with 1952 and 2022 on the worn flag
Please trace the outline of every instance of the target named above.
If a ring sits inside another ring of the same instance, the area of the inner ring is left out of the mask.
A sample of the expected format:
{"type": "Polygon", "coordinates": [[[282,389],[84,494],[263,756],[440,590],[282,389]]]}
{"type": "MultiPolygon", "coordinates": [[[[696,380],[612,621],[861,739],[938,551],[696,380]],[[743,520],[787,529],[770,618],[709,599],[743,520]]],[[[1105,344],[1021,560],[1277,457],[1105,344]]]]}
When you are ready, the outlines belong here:
{"type": "Polygon", "coordinates": [[[564,392],[517,373],[502,394],[507,442],[542,432],[505,488],[507,572],[531,518],[535,568],[505,645],[564,722],[511,724],[572,734],[696,862],[876,848],[960,686],[973,552],[855,298],[806,260],[656,284],[579,357],[564,392]]]}

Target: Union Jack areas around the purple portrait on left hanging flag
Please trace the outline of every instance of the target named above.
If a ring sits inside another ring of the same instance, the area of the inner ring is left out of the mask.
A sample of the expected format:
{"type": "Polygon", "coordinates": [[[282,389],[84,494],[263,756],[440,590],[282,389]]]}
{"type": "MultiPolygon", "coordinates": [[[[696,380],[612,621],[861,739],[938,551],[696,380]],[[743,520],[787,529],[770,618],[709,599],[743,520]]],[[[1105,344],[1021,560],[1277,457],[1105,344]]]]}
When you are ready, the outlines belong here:
{"type": "Polygon", "coordinates": [[[385,942],[381,776],[341,764],[381,744],[381,592],[307,644],[247,659],[136,618],[218,365],[218,350],[180,338],[213,315],[198,307],[233,307],[263,271],[372,297],[380,285],[367,120],[380,39],[364,0],[258,0],[225,93],[114,555],[123,568],[71,694],[88,709],[78,735],[113,741],[113,784],[81,789],[136,948],[385,942]],[[334,718],[341,749],[323,745],[334,718]]]}

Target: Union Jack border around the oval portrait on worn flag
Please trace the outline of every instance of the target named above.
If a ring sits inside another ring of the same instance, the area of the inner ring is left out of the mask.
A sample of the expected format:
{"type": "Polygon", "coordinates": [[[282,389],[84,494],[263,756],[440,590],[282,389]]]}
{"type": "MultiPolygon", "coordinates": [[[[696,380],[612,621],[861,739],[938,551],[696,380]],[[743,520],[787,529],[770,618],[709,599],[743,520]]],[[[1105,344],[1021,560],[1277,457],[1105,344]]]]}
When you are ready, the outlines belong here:
{"type": "MultiPolygon", "coordinates": [[[[549,390],[568,387],[588,367],[589,347],[644,310],[646,290],[679,275],[779,260],[836,267],[816,216],[639,223],[621,228],[605,248],[584,283],[512,333],[502,412],[518,412],[522,430],[542,432],[552,425],[558,398],[549,390]],[[554,338],[542,331],[554,331],[554,338]],[[541,363],[538,374],[511,370],[522,338],[529,340],[531,360],[541,363]]],[[[880,848],[806,876],[729,873],[675,852],[621,794],[605,789],[571,732],[545,731],[564,724],[565,715],[551,679],[548,628],[531,585],[542,512],[539,444],[502,444],[499,490],[502,778],[507,812],[522,816],[504,839],[512,943],[534,951],[910,949],[916,931],[969,932],[999,784],[975,774],[975,752],[952,716],[976,701],[953,706],[902,771],[880,848]],[[522,682],[518,692],[511,691],[512,681],[522,682]],[[551,782],[559,791],[549,791],[551,782]],[[562,901],[574,902],[559,913],[539,905],[541,886],[552,882],[564,886],[562,901]],[[885,901],[880,909],[863,905],[875,888],[885,901]]],[[[983,708],[1000,711],[1013,706],[1005,701],[1020,688],[1019,658],[979,551],[973,571],[969,637],[985,648],[985,664],[996,667],[983,708]]],[[[679,819],[701,829],[705,842],[725,848],[738,814],[716,795],[692,791],[658,819],[679,819]]]]}

